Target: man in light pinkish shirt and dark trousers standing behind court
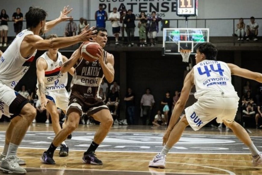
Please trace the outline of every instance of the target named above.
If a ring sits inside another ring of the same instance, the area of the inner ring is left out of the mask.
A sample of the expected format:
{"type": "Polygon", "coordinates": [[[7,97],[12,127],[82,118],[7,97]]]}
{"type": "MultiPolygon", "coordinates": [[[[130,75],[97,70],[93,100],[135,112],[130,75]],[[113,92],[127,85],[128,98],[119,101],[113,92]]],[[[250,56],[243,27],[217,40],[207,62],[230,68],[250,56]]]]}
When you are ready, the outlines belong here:
{"type": "Polygon", "coordinates": [[[142,109],[143,117],[142,117],[142,124],[148,125],[149,121],[151,121],[151,112],[154,106],[155,100],[154,96],[150,94],[150,89],[146,89],[146,93],[142,95],[140,101],[140,109],[142,109]]]}

